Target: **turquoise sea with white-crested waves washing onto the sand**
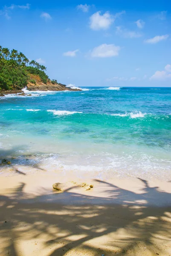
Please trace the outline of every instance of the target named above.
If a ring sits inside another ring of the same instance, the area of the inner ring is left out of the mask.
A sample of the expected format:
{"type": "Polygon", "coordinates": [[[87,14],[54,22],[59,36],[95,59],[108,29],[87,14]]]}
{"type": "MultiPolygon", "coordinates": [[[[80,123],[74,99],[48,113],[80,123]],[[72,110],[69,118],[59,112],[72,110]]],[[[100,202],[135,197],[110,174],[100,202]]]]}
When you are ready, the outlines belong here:
{"type": "Polygon", "coordinates": [[[168,180],[171,88],[87,87],[0,97],[0,156],[25,172],[168,180]]]}

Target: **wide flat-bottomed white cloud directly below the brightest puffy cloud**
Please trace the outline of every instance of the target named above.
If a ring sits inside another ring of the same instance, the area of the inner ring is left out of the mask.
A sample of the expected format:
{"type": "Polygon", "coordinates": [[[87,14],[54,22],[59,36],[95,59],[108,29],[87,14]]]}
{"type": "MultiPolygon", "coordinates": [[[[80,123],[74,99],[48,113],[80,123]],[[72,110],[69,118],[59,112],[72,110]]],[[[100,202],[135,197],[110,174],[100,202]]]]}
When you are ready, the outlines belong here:
{"type": "Polygon", "coordinates": [[[98,47],[95,47],[91,51],[92,58],[107,58],[107,57],[114,57],[119,55],[119,50],[121,47],[116,46],[114,44],[101,44],[98,47]]]}

